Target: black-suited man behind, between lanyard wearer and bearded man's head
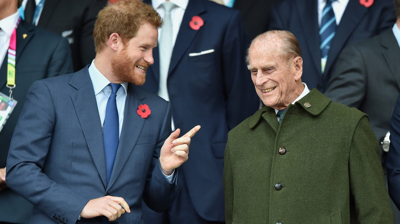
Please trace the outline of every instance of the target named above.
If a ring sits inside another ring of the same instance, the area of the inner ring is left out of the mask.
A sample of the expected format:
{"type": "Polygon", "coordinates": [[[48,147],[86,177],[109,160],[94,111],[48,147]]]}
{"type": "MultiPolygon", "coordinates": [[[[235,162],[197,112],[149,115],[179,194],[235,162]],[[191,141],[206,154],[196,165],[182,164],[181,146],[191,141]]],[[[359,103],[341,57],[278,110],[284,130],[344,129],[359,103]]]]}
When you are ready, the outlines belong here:
{"type": "Polygon", "coordinates": [[[24,0],[22,8],[31,9],[34,6],[27,7],[31,4],[36,5],[33,10],[36,10],[37,16],[25,19],[68,39],[75,72],[92,62],[95,56],[94,22],[107,0],[24,0]]]}

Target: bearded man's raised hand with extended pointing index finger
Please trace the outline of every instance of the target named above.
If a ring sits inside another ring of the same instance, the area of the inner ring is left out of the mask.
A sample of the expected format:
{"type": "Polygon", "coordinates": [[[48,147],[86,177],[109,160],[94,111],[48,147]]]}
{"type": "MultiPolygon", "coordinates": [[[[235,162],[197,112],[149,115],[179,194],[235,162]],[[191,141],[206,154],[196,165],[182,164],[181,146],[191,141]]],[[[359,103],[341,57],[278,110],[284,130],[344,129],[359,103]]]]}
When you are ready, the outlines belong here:
{"type": "Polygon", "coordinates": [[[171,175],[175,168],[188,160],[190,140],[199,129],[200,125],[197,125],[178,138],[181,133],[178,128],[165,140],[159,156],[159,164],[165,175],[171,175]]]}

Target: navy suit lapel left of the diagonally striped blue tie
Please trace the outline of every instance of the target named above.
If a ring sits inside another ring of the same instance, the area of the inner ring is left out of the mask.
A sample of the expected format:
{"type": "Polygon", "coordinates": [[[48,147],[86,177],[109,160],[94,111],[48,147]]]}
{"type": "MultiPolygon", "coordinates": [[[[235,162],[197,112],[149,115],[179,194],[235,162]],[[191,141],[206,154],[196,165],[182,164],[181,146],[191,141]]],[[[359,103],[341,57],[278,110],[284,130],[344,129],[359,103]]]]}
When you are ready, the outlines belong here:
{"type": "MultiPolygon", "coordinates": [[[[318,11],[317,1],[314,0],[296,0],[298,14],[305,31],[304,38],[306,39],[309,52],[318,52],[311,54],[312,62],[317,71],[321,71],[321,54],[319,54],[319,26],[318,26],[318,11]]],[[[321,74],[321,72],[319,72],[321,74]]]]}

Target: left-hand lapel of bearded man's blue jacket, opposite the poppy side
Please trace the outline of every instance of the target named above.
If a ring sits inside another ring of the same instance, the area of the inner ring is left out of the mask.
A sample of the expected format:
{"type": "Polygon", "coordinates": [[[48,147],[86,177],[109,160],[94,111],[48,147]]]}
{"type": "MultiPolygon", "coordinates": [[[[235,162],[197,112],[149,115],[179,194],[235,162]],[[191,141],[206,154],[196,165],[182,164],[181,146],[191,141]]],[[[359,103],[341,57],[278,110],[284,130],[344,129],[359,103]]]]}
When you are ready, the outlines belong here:
{"type": "Polygon", "coordinates": [[[98,116],[96,98],[88,67],[75,73],[69,84],[76,88],[76,92],[71,94],[71,100],[75,107],[76,116],[81,124],[93,162],[106,187],[107,171],[103,144],[103,129],[98,116]]]}

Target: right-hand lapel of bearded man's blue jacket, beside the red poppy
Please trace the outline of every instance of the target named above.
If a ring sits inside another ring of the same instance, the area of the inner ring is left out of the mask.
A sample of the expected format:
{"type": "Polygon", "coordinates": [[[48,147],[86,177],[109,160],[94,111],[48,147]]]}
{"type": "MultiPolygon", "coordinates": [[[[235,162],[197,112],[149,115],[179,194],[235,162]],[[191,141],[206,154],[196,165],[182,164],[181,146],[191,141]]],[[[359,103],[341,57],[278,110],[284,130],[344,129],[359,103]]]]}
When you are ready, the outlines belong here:
{"type": "Polygon", "coordinates": [[[136,144],[137,139],[142,131],[145,119],[137,115],[137,107],[142,104],[141,101],[146,96],[138,91],[138,87],[134,84],[128,84],[128,95],[125,102],[124,123],[122,126],[121,137],[117,153],[115,155],[114,167],[112,169],[110,182],[106,191],[114,184],[119,173],[124,169],[125,163],[128,161],[129,155],[136,144]]]}

